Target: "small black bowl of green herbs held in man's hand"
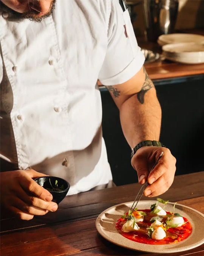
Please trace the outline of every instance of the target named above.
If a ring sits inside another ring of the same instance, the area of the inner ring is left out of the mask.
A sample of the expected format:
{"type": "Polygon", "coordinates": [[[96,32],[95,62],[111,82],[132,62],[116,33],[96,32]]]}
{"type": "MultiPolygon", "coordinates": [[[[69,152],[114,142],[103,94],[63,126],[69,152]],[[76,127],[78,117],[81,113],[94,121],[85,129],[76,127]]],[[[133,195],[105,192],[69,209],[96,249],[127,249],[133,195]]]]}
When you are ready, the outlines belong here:
{"type": "Polygon", "coordinates": [[[60,177],[43,176],[34,179],[37,184],[47,189],[53,195],[53,202],[59,204],[70,189],[69,182],[60,177]]]}

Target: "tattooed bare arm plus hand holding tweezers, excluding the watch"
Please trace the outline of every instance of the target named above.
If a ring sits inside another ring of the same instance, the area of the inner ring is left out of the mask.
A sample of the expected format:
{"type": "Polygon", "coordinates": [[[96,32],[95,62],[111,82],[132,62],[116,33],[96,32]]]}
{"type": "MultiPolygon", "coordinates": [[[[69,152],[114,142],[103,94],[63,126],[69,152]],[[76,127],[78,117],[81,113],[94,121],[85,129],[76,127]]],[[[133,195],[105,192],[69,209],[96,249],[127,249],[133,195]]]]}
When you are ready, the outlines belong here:
{"type": "MultiPolygon", "coordinates": [[[[126,82],[107,86],[107,89],[120,111],[122,130],[131,148],[144,140],[159,140],[161,107],[155,86],[144,67],[126,82]]],[[[173,182],[175,163],[168,148],[150,146],[136,151],[131,165],[138,173],[140,184],[148,180],[145,196],[157,196],[167,191],[173,182]],[[149,173],[161,151],[164,157],[149,173]]]]}

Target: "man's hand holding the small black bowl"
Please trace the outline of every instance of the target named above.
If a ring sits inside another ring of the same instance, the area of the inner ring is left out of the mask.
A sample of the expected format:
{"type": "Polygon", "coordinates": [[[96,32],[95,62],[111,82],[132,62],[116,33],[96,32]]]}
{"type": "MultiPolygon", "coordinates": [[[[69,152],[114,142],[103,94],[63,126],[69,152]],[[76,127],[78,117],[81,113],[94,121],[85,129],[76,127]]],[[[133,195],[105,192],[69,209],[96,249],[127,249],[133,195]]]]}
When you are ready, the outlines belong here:
{"type": "Polygon", "coordinates": [[[45,215],[57,210],[53,196],[33,179],[46,176],[34,170],[16,170],[0,173],[1,207],[8,209],[22,220],[34,215],[45,215]]]}

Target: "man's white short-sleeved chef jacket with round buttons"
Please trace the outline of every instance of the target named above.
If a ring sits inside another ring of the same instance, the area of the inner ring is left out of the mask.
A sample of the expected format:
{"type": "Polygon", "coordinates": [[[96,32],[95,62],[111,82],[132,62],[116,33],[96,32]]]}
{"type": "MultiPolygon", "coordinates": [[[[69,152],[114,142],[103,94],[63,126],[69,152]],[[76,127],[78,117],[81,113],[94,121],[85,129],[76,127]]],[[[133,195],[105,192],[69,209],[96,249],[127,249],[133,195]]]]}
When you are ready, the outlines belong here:
{"type": "Polygon", "coordinates": [[[0,12],[0,156],[66,179],[68,194],[107,184],[97,79],[123,83],[144,63],[128,10],[118,0],[57,0],[42,22],[0,12]]]}

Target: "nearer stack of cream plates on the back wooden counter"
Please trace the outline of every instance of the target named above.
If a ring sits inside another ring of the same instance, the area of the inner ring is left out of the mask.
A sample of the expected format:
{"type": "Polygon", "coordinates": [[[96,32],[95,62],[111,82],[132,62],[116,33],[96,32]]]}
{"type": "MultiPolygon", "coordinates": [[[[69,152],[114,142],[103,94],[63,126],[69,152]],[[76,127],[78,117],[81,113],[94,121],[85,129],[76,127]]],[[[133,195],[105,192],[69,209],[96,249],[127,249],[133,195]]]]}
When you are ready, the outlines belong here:
{"type": "Polygon", "coordinates": [[[179,43],[162,46],[162,55],[172,61],[185,64],[204,63],[204,44],[179,43]]]}

